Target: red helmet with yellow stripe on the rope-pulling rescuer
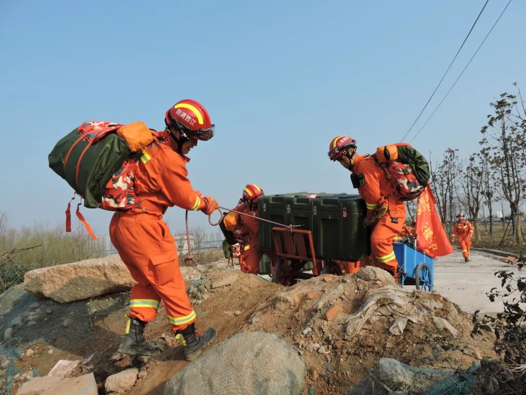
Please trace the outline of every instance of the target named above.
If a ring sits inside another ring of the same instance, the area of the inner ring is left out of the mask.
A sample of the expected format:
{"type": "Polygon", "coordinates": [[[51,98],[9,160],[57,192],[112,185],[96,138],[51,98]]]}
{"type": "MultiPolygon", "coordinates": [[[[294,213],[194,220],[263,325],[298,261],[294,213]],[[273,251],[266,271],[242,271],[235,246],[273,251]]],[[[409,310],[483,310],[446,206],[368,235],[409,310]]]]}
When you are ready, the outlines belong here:
{"type": "Polygon", "coordinates": [[[195,100],[185,99],[177,102],[166,111],[167,127],[177,129],[183,137],[197,140],[210,140],[214,137],[215,125],[202,104],[195,100]]]}

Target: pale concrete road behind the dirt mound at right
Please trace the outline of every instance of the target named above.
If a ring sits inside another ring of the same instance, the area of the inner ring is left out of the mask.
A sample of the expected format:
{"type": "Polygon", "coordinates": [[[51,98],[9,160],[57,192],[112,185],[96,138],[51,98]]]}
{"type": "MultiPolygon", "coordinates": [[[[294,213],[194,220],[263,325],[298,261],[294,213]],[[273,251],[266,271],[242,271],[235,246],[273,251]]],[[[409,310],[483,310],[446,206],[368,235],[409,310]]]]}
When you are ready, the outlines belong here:
{"type": "Polygon", "coordinates": [[[493,275],[495,272],[508,269],[517,273],[517,266],[500,259],[500,256],[473,251],[467,263],[460,251],[441,256],[435,261],[433,292],[448,298],[468,313],[475,310],[502,311],[502,301],[491,302],[486,292],[492,287],[501,290],[501,279],[493,275]]]}

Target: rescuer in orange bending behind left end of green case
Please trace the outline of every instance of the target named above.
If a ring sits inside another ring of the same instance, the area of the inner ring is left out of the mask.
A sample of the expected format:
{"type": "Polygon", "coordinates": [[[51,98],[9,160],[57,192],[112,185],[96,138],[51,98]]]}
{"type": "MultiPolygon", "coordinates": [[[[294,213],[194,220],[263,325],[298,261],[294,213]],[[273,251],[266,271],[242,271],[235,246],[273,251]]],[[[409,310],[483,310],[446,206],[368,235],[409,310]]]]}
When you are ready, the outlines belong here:
{"type": "MultiPolygon", "coordinates": [[[[234,210],[241,213],[258,215],[258,200],[263,195],[261,188],[255,184],[248,184],[234,210]]],[[[230,211],[224,219],[226,230],[233,232],[239,242],[241,252],[239,265],[244,273],[258,274],[259,261],[263,256],[259,250],[258,220],[247,215],[230,211]]]]}

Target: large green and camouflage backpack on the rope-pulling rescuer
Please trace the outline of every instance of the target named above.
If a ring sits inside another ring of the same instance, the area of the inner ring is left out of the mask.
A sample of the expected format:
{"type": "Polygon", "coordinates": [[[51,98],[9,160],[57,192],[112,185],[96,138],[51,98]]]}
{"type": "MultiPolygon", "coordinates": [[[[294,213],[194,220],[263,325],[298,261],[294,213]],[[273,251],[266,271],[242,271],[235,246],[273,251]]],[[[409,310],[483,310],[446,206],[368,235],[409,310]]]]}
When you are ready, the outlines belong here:
{"type": "MultiPolygon", "coordinates": [[[[142,122],[123,125],[87,121],[60,139],[49,153],[49,167],[81,197],[76,214],[95,240],[79,212],[82,199],[88,208],[111,211],[136,206],[139,200],[134,192],[135,169],[140,160],[149,160],[148,145],[157,140],[154,133],[142,122]]],[[[66,232],[71,230],[70,203],[66,232]]]]}

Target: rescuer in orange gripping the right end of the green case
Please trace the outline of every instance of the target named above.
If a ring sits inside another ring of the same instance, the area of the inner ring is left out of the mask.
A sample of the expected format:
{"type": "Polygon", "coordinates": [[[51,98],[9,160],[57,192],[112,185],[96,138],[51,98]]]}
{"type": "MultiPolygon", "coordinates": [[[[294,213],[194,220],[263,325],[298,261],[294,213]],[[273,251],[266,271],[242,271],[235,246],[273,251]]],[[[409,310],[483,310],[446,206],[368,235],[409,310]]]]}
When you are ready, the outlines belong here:
{"type": "Polygon", "coordinates": [[[351,174],[352,185],[367,206],[364,226],[373,226],[371,254],[375,266],[397,276],[398,262],[392,242],[402,230],[406,219],[406,207],[393,194],[393,187],[386,171],[369,155],[356,152],[356,140],[349,136],[337,136],[329,144],[329,159],[338,161],[351,174]]]}

